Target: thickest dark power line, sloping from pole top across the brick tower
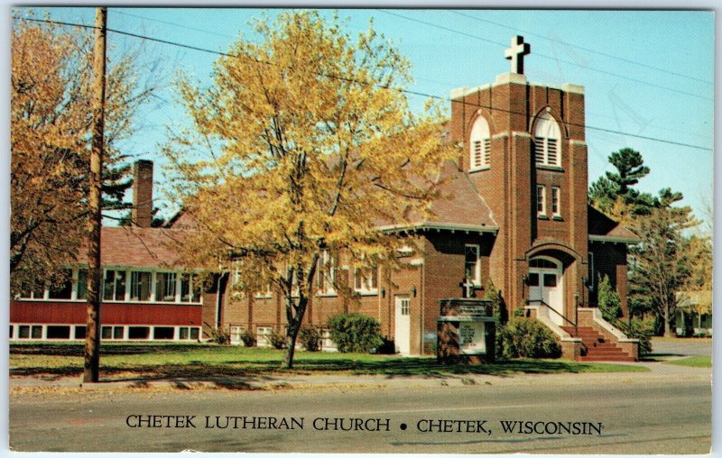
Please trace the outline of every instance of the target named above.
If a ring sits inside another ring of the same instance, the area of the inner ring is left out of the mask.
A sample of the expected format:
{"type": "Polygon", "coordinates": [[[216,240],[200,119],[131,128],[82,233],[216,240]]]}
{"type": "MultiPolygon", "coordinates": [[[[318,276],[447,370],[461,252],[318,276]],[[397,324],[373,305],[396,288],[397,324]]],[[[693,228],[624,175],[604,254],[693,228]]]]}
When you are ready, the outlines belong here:
{"type": "MultiPolygon", "coordinates": [[[[70,26],[70,27],[80,27],[80,28],[85,28],[85,29],[95,29],[95,28],[96,28],[96,27],[94,27],[94,26],[92,26],[92,25],[86,25],[86,24],[80,24],[80,23],[64,23],[64,22],[60,22],[60,21],[51,21],[51,20],[48,20],[48,19],[23,18],[23,17],[18,17],[18,16],[13,16],[13,19],[16,19],[16,20],[25,20],[25,21],[31,21],[31,22],[37,22],[37,23],[49,23],[49,24],[51,24],[51,25],[64,25],[64,26],[70,26]]],[[[255,63],[258,63],[258,64],[275,66],[275,64],[273,64],[273,62],[267,62],[267,61],[263,61],[263,60],[256,60],[256,59],[251,58],[250,56],[240,56],[240,55],[237,55],[237,54],[230,54],[230,53],[222,52],[222,51],[218,51],[218,50],[208,50],[208,49],[205,49],[205,48],[199,48],[198,46],[192,46],[192,45],[189,45],[189,44],[183,44],[183,43],[179,43],[179,42],[176,42],[176,41],[163,40],[163,39],[160,39],[160,38],[148,37],[148,36],[144,36],[144,35],[141,35],[141,34],[138,34],[138,33],[118,31],[118,30],[115,30],[115,29],[107,29],[107,32],[114,32],[114,33],[118,33],[118,34],[120,34],[120,35],[125,35],[125,36],[129,36],[129,37],[134,37],[134,38],[137,38],[137,39],[140,39],[140,40],[155,41],[155,42],[159,42],[159,43],[163,43],[163,44],[168,44],[168,45],[171,45],[171,46],[177,46],[177,47],[186,48],[186,49],[189,49],[189,50],[197,50],[197,51],[200,51],[200,52],[206,52],[206,53],[208,53],[208,54],[215,54],[215,55],[223,56],[223,57],[230,57],[230,58],[235,58],[235,59],[245,58],[245,59],[247,59],[247,60],[252,60],[252,61],[254,61],[255,63]]],[[[439,101],[442,101],[442,102],[452,102],[452,103],[458,103],[458,104],[462,104],[462,105],[470,105],[470,106],[473,106],[473,107],[476,107],[476,108],[486,108],[486,109],[488,109],[488,110],[499,111],[499,112],[508,113],[508,114],[511,114],[511,115],[526,115],[526,113],[515,112],[515,111],[513,111],[513,110],[508,110],[508,109],[501,108],[501,107],[495,107],[495,106],[492,106],[492,105],[479,105],[479,104],[469,103],[469,102],[466,102],[466,101],[452,100],[451,98],[445,97],[445,96],[435,96],[435,95],[433,95],[433,94],[426,94],[426,93],[419,92],[419,91],[414,91],[414,90],[411,90],[411,89],[403,89],[403,88],[400,88],[400,87],[389,87],[389,86],[384,86],[384,85],[378,85],[378,84],[375,84],[375,83],[371,83],[371,82],[363,81],[363,80],[357,80],[357,79],[354,79],[354,78],[345,78],[345,77],[340,77],[340,76],[338,76],[338,75],[329,75],[329,74],[324,74],[324,73],[321,73],[321,72],[317,72],[317,75],[319,75],[319,76],[321,76],[321,77],[324,77],[324,78],[332,78],[332,79],[343,80],[343,81],[347,81],[347,82],[349,82],[349,83],[360,84],[360,85],[363,85],[363,86],[377,87],[377,88],[386,89],[386,90],[393,90],[393,91],[397,91],[397,92],[400,92],[400,93],[403,93],[403,94],[412,95],[412,96],[428,97],[428,98],[432,98],[432,99],[434,99],[434,100],[439,100],[439,101]]],[[[671,141],[671,140],[665,140],[665,139],[661,139],[661,138],[649,137],[649,136],[646,136],[646,135],[640,135],[640,134],[636,134],[636,133],[627,133],[627,132],[622,132],[622,131],[616,131],[616,130],[613,130],[613,129],[606,129],[606,128],[603,128],[603,127],[596,127],[596,126],[592,126],[592,125],[588,125],[588,124],[576,124],[576,123],[569,123],[569,122],[566,123],[566,124],[573,125],[573,126],[577,126],[577,127],[584,127],[584,128],[586,128],[586,129],[595,130],[595,131],[599,131],[599,132],[617,133],[617,134],[620,134],[620,135],[625,135],[625,136],[628,136],[628,137],[639,138],[639,139],[642,139],[642,140],[649,140],[649,141],[652,141],[652,142],[662,142],[662,143],[672,144],[672,145],[676,145],[676,146],[684,146],[684,147],[692,148],[692,149],[696,149],[696,150],[712,151],[711,148],[707,148],[707,147],[704,147],[704,146],[699,146],[699,145],[694,145],[694,144],[684,143],[684,142],[674,142],[674,141],[671,141]]]]}

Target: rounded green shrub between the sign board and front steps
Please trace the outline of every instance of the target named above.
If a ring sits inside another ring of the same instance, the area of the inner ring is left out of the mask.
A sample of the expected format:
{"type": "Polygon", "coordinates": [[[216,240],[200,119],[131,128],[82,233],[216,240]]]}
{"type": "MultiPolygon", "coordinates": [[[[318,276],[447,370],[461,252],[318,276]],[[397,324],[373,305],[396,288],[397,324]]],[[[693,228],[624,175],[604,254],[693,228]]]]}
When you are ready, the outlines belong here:
{"type": "Polygon", "coordinates": [[[501,330],[504,358],[558,358],[561,348],[551,331],[534,318],[514,317],[501,330]]]}

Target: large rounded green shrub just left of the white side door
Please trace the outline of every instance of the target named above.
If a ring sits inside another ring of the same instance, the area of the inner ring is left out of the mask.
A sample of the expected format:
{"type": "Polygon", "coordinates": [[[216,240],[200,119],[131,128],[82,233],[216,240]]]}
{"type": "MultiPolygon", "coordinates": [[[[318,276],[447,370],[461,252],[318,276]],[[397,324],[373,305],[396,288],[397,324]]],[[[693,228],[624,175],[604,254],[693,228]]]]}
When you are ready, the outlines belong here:
{"type": "Polygon", "coordinates": [[[381,326],[371,316],[341,314],[329,318],[331,339],[341,353],[368,353],[384,344],[381,326]]]}

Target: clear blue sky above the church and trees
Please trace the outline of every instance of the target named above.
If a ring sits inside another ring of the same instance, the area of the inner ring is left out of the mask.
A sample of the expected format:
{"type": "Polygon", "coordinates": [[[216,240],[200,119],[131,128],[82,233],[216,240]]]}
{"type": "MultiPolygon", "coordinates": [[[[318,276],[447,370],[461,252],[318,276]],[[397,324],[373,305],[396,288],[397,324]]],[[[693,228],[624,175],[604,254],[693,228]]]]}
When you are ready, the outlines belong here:
{"type": "MultiPolygon", "coordinates": [[[[35,9],[36,13],[41,10],[35,9]]],[[[51,17],[92,24],[93,8],[50,8],[51,17]]],[[[247,23],[257,9],[180,9],[111,7],[108,27],[208,50],[227,50],[238,37],[252,34],[247,23]]],[[[273,17],[277,10],[265,10],[273,17]]],[[[652,169],[640,188],[681,191],[698,217],[711,204],[714,112],[714,14],[704,11],[530,11],[530,10],[341,10],[351,32],[375,29],[392,39],[412,61],[410,89],[449,96],[456,87],[476,87],[509,71],[504,48],[513,34],[532,45],[524,61],[532,83],[585,87],[589,179],[612,166],[612,151],[641,151],[652,169]],[[690,148],[645,140],[696,145],[690,148]]],[[[109,33],[109,57],[138,39],[109,33]]],[[[125,144],[138,159],[164,162],[158,144],[163,126],[181,124],[172,79],[179,69],[209,82],[218,56],[168,44],[143,42],[143,59],[159,59],[153,75],[162,89],[141,119],[142,130],[125,144]]],[[[412,97],[421,106],[422,97],[412,97]]],[[[448,105],[448,104],[447,104],[448,105]]],[[[159,170],[156,179],[162,181],[159,170]]],[[[166,203],[167,205],[167,203],[166,203]]],[[[166,212],[170,211],[167,209],[166,212]]]]}

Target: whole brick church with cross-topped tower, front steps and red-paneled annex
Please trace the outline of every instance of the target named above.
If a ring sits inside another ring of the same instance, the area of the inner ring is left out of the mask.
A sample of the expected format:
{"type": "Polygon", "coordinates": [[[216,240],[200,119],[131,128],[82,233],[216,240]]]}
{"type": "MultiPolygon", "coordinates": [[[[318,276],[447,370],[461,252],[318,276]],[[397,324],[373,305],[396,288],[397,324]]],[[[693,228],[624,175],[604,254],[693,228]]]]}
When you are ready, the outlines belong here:
{"type": "MultiPolygon", "coordinates": [[[[324,347],[333,348],[323,329],[329,317],[358,312],[375,317],[398,352],[430,353],[440,299],[460,297],[462,284],[483,298],[491,281],[509,315],[524,308],[541,320],[565,357],[636,359],[637,342],[596,308],[597,282],[606,275],[626,315],[627,244],[637,239],[588,206],[584,87],[530,83],[523,75],[528,53],[529,45],[514,37],[509,73],[451,92],[446,135],[458,145],[458,159],[441,166],[433,216],[379,227],[418,241],[417,249],[400,253],[402,269],[361,275],[338,260],[335,268],[324,254],[305,317],[322,329],[324,347]],[[334,284],[341,282],[354,297],[337,294],[334,284]],[[605,344],[595,348],[600,338],[605,344]]],[[[147,162],[136,172],[148,167],[152,174],[147,162]]],[[[282,297],[273,290],[239,293],[231,272],[196,294],[193,276],[172,269],[177,260],[163,239],[182,237],[184,215],[149,227],[152,187],[152,179],[136,176],[137,227],[103,230],[103,337],[198,340],[219,329],[236,343],[250,330],[264,344],[273,330],[283,333],[282,297]]],[[[16,298],[11,339],[83,338],[83,272],[72,269],[62,295],[46,290],[16,298]]]]}

